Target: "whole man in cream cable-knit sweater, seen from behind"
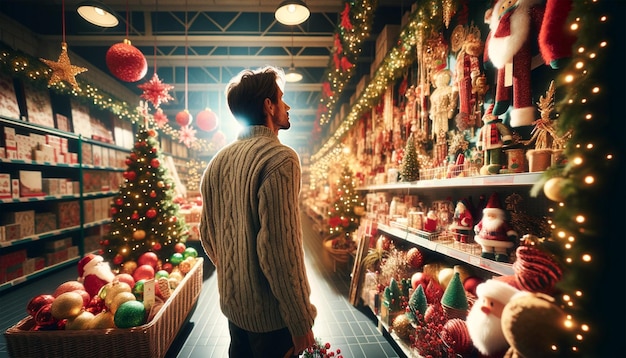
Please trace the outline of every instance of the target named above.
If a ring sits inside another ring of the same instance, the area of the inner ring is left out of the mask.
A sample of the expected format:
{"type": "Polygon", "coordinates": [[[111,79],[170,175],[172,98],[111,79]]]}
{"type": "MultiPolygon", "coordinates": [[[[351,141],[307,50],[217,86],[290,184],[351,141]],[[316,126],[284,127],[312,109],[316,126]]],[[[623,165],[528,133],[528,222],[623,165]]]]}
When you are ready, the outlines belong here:
{"type": "Polygon", "coordinates": [[[274,67],[244,70],[228,84],[228,106],[243,129],[201,183],[200,235],[216,267],[230,357],[297,356],[315,343],[300,161],[278,139],[290,127],[282,84],[284,72],[274,67]]]}

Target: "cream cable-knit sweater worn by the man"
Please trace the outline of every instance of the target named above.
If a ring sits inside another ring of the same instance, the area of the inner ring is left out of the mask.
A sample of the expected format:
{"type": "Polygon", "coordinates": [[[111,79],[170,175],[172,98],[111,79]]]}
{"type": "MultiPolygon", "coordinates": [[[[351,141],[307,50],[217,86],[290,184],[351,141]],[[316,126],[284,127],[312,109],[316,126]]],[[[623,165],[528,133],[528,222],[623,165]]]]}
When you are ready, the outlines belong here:
{"type": "Polygon", "coordinates": [[[200,237],[217,268],[220,306],[252,332],[304,335],[317,314],[304,266],[300,161],[268,127],[251,126],[203,174],[200,237]]]}

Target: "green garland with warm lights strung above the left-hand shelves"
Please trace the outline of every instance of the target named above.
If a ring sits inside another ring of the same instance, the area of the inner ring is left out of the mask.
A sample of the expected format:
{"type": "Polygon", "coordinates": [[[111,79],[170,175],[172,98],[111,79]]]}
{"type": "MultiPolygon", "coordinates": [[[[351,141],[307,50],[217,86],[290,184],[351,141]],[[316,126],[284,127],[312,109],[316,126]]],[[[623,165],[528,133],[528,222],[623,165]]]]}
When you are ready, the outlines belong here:
{"type": "MultiPolygon", "coordinates": [[[[93,105],[101,110],[106,110],[122,120],[127,120],[132,124],[145,121],[145,115],[137,111],[137,107],[126,101],[119,100],[113,95],[106,93],[82,78],[76,78],[78,88],[68,86],[64,81],[48,84],[48,78],[52,75],[52,70],[39,59],[30,56],[22,51],[9,49],[0,43],[0,69],[5,73],[22,80],[30,81],[35,88],[46,90],[51,89],[61,95],[69,95],[79,103],[93,105]]],[[[152,121],[152,116],[150,116],[152,121]]],[[[183,142],[185,133],[172,128],[167,122],[154,122],[163,134],[183,142]],[[181,137],[182,136],[182,137],[181,137]]],[[[200,138],[194,138],[187,146],[197,152],[212,153],[215,151],[215,144],[200,138]]]]}

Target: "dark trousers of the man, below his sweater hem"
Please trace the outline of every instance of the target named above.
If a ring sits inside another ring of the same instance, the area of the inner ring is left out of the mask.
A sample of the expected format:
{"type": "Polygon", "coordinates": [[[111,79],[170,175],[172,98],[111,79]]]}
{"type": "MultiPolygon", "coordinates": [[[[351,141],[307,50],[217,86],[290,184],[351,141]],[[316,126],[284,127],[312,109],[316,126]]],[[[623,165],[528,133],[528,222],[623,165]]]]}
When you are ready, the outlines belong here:
{"type": "Polygon", "coordinates": [[[256,333],[246,331],[228,321],[230,331],[230,358],[286,358],[297,357],[293,353],[293,341],[287,328],[256,333]]]}

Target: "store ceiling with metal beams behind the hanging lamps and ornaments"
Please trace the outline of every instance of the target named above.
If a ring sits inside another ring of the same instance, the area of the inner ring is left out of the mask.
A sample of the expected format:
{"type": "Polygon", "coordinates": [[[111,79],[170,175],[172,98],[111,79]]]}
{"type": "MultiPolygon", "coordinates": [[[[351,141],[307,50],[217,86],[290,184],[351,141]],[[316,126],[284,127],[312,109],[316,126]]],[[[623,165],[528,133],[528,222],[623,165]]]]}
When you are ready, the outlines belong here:
{"type": "MultiPolygon", "coordinates": [[[[2,0],[0,14],[19,22],[49,43],[60,44],[65,34],[71,53],[107,74],[110,74],[105,60],[107,50],[129,39],[146,57],[147,75],[134,83],[111,77],[138,97],[142,91],[137,85],[149,80],[156,69],[164,83],[174,86],[170,91],[174,99],[161,106],[172,122],[176,113],[184,109],[195,115],[205,108],[217,112],[224,121],[230,116],[224,88],[235,74],[244,68],[268,64],[287,70],[293,62],[304,78],[287,84],[285,90],[285,101],[292,107],[292,128],[285,137],[289,138],[288,144],[306,150],[311,146],[310,134],[317,120],[322,82],[331,66],[333,37],[345,1],[308,1],[311,16],[294,26],[280,24],[274,18],[280,1],[101,1],[120,20],[113,28],[98,27],[83,20],[75,11],[80,0],[2,0]]],[[[371,35],[364,41],[351,86],[370,72],[376,34],[385,24],[399,24],[413,2],[378,1],[371,35]]],[[[344,92],[351,92],[350,85],[344,92]]]]}

